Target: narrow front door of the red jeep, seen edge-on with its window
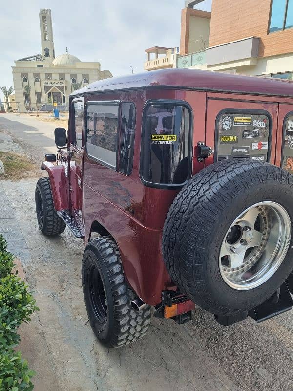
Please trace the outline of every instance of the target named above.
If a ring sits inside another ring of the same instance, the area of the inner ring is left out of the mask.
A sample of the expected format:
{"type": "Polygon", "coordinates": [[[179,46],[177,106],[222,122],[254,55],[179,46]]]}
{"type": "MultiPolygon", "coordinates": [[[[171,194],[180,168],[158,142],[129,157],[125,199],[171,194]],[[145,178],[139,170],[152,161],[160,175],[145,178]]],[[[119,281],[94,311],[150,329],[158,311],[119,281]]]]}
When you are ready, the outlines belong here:
{"type": "Polygon", "coordinates": [[[83,231],[83,97],[76,98],[71,103],[71,123],[69,205],[75,223],[83,231]]]}

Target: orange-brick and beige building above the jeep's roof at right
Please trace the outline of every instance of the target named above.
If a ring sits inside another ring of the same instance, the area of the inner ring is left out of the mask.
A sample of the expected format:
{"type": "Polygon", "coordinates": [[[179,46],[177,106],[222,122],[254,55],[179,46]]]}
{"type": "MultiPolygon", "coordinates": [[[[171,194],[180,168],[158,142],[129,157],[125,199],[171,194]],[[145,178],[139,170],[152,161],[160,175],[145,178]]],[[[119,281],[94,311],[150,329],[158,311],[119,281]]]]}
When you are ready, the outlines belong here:
{"type": "MultiPolygon", "coordinates": [[[[186,1],[180,50],[168,67],[293,79],[293,0],[281,7],[278,0],[259,0],[257,7],[255,0],[212,0],[211,12],[193,9],[203,2],[186,1]]],[[[149,59],[144,68],[160,69],[149,59]]]]}

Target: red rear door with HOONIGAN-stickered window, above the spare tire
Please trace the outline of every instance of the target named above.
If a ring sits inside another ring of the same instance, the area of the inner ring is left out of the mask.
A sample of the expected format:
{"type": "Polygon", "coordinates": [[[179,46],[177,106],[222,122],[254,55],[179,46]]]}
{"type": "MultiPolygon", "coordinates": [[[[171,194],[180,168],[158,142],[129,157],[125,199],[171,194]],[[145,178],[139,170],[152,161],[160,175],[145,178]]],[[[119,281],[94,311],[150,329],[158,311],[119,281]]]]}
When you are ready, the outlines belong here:
{"type": "MultiPolygon", "coordinates": [[[[249,97],[251,99],[251,97],[249,97]]],[[[208,96],[206,144],[214,155],[206,165],[228,158],[275,163],[278,104],[208,96]]]]}

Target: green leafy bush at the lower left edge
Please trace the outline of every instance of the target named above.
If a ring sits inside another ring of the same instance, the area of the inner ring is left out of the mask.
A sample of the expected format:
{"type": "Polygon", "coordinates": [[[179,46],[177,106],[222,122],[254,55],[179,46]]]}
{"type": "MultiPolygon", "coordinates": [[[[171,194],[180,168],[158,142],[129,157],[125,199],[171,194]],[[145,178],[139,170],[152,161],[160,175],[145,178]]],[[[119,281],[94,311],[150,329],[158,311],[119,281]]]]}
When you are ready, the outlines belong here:
{"type": "Polygon", "coordinates": [[[0,235],[0,391],[31,391],[34,373],[14,348],[20,341],[19,326],[30,321],[30,315],[38,308],[28,286],[11,274],[13,259],[0,235]]]}

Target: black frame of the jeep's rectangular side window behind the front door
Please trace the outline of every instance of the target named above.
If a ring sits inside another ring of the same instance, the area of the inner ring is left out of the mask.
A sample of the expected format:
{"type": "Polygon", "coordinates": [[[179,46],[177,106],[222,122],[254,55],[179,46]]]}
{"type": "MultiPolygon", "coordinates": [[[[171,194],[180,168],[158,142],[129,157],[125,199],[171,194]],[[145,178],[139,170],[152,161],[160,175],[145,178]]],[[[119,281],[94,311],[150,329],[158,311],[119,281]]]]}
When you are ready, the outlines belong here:
{"type": "MultiPolygon", "coordinates": [[[[121,101],[120,100],[114,100],[114,101],[87,101],[84,105],[84,150],[86,153],[86,156],[93,160],[96,161],[97,163],[102,164],[103,166],[117,171],[118,172],[118,156],[119,156],[119,139],[120,139],[120,120],[121,120],[121,101]],[[117,128],[117,146],[116,146],[116,164],[115,167],[112,166],[111,164],[105,162],[102,159],[99,159],[95,156],[92,156],[88,153],[87,151],[87,133],[86,133],[86,124],[87,124],[87,108],[89,105],[113,105],[113,106],[118,106],[118,128],[117,128]]],[[[123,174],[123,173],[120,173],[123,174]]]]}

